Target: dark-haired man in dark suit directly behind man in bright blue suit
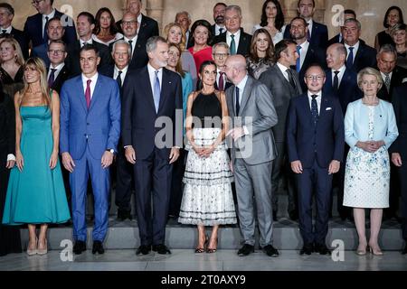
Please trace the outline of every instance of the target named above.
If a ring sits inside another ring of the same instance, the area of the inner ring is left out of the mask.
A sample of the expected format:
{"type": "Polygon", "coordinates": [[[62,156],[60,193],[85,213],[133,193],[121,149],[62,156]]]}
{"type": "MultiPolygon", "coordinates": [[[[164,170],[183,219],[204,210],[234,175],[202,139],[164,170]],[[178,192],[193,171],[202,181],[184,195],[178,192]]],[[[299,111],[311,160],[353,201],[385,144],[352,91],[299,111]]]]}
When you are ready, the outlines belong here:
{"type": "Polygon", "coordinates": [[[109,48],[102,43],[94,42],[92,40],[92,31],[95,28],[95,17],[89,12],[81,12],[80,14],[78,14],[78,17],[76,19],[79,40],[71,43],[71,45],[68,46],[67,65],[69,70],[71,71],[71,77],[78,76],[81,73],[80,49],[85,44],[91,44],[98,49],[100,55],[100,61],[98,65],[99,70],[113,63],[109,48]]]}

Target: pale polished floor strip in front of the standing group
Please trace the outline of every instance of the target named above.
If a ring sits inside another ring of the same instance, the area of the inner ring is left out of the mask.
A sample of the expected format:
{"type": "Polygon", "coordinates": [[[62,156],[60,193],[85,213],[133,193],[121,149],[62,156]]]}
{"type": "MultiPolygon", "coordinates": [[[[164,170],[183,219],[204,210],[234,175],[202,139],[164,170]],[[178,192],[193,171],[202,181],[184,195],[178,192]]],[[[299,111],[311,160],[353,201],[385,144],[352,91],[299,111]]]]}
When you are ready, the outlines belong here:
{"type": "Polygon", "coordinates": [[[214,254],[173,249],[172,253],[136,256],[135,250],[109,249],[99,256],[88,250],[72,260],[58,250],[45,256],[10,254],[0,257],[0,271],[407,271],[407,256],[398,251],[385,251],[383,256],[357,256],[354,251],[299,256],[298,251],[281,250],[275,258],[259,250],[245,257],[230,249],[214,254]]]}

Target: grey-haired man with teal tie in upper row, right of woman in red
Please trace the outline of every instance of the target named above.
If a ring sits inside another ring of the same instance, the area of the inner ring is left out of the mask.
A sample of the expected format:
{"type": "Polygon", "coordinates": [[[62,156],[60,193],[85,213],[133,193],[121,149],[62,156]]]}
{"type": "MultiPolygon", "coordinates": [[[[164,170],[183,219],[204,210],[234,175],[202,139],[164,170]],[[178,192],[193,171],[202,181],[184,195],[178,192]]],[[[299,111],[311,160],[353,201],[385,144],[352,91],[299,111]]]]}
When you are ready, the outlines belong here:
{"type": "Polygon", "coordinates": [[[226,32],[214,38],[214,43],[226,42],[231,55],[241,54],[246,56],[251,50],[251,34],[245,33],[241,28],[241,7],[229,5],[224,13],[226,32]]]}

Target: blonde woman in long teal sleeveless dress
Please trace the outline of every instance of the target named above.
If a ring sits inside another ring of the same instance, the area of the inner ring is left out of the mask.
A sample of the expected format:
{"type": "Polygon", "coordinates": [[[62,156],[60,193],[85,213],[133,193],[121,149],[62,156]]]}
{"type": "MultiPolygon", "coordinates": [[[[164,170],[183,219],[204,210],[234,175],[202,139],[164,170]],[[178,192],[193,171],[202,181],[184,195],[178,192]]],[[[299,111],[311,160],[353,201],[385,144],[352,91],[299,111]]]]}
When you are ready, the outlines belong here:
{"type": "Polygon", "coordinates": [[[14,96],[15,163],[8,182],[3,224],[28,224],[27,254],[47,253],[50,223],[71,219],[58,162],[60,99],[48,89],[39,58],[24,65],[24,89],[14,96]],[[41,225],[36,236],[36,225],[41,225]]]}

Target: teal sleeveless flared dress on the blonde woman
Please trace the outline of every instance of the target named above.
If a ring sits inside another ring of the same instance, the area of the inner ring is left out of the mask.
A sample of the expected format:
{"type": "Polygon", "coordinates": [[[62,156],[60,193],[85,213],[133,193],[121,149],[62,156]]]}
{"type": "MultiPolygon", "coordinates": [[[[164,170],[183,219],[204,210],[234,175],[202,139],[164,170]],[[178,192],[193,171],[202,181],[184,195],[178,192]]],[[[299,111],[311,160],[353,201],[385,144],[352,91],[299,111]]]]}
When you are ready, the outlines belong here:
{"type": "Polygon", "coordinates": [[[51,170],[52,114],[49,107],[20,107],[23,171],[10,172],[3,224],[64,223],[71,219],[60,163],[51,170]]]}

